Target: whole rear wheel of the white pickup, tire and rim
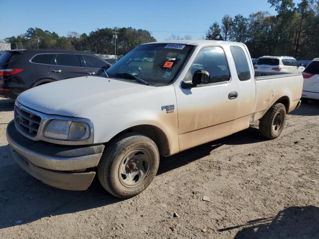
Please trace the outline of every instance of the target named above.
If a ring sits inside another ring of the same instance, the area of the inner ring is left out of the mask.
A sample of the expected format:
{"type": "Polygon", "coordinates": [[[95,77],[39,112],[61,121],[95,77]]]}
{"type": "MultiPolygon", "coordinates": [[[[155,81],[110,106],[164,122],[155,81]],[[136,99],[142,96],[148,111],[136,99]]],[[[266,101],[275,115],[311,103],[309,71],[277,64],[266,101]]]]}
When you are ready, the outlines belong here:
{"type": "Polygon", "coordinates": [[[277,103],[273,105],[259,121],[260,133],[268,138],[278,138],[284,129],[286,122],[286,107],[277,103]]]}

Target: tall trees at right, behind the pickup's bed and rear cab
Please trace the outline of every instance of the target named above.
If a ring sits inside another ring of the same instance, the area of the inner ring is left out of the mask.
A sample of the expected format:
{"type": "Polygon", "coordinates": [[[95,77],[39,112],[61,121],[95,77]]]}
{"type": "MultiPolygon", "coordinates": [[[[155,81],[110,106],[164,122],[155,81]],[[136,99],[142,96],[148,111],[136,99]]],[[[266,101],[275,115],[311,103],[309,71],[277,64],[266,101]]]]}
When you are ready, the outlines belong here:
{"type": "Polygon", "coordinates": [[[277,15],[259,11],[244,17],[225,15],[209,26],[206,39],[243,42],[252,57],[319,57],[319,0],[268,0],[277,15]]]}

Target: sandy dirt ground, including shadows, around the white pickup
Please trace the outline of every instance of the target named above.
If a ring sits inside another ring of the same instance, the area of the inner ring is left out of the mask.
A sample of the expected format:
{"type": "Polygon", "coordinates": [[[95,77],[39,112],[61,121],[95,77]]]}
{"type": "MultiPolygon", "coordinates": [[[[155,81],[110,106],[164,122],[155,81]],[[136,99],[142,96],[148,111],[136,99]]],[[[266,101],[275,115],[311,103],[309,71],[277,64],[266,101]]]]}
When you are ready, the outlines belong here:
{"type": "Polygon", "coordinates": [[[20,169],[5,138],[13,105],[0,100],[0,239],[319,238],[318,103],[289,115],[276,140],[254,125],[162,158],[151,186],[128,200],[98,180],[64,191],[20,169]]]}

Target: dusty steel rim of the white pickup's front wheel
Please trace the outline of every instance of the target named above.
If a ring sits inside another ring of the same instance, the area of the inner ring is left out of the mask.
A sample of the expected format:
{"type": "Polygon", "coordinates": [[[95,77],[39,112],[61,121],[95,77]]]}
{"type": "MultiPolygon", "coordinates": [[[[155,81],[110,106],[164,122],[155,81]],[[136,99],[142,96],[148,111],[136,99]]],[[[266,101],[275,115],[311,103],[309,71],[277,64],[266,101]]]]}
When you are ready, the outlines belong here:
{"type": "Polygon", "coordinates": [[[144,148],[128,152],[119,167],[119,179],[125,187],[136,187],[143,183],[151,166],[151,154],[144,148]]]}

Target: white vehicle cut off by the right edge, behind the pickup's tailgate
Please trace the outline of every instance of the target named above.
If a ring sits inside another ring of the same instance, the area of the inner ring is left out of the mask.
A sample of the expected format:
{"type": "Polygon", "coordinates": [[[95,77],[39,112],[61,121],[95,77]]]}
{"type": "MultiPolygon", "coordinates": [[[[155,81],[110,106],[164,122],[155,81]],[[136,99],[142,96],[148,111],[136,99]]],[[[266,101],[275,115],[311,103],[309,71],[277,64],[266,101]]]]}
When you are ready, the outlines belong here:
{"type": "Polygon", "coordinates": [[[319,58],[314,59],[303,73],[304,89],[303,101],[319,100],[319,58]]]}

